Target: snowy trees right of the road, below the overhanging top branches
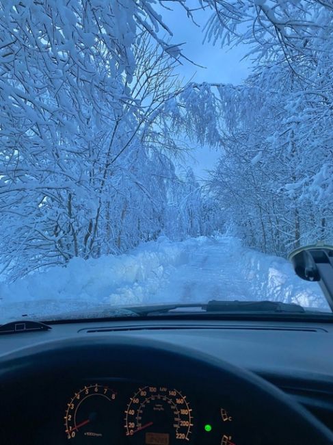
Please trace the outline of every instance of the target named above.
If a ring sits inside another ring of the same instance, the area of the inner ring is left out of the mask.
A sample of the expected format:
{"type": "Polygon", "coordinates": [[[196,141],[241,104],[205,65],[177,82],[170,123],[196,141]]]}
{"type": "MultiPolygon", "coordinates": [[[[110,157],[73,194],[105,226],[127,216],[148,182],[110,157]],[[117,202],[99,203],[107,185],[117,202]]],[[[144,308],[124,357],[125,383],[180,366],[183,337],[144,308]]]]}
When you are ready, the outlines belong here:
{"type": "Polygon", "coordinates": [[[332,118],[319,91],[281,64],[219,95],[223,151],[210,186],[237,233],[278,255],[331,240],[332,118]]]}

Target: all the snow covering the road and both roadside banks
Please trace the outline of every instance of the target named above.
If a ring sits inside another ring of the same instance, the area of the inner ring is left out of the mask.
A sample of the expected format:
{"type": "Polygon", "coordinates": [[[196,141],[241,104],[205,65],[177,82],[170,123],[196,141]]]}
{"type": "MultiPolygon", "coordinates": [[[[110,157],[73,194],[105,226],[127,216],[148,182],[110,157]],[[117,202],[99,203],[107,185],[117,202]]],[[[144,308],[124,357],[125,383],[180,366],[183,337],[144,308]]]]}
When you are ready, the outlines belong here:
{"type": "Polygon", "coordinates": [[[159,238],[124,255],[72,259],[15,283],[0,283],[1,321],[98,311],[110,305],[271,299],[322,307],[317,283],[295,276],[287,260],[220,236],[159,238]]]}

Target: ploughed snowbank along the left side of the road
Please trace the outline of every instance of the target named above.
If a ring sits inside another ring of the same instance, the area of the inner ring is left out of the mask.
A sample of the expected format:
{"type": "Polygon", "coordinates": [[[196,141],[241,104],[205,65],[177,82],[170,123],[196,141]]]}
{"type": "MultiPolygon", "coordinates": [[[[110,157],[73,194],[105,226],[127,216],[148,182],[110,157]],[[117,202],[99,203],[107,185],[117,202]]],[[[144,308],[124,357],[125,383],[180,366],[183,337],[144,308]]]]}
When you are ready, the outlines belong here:
{"type": "Polygon", "coordinates": [[[188,261],[189,251],[204,238],[170,242],[159,238],[125,255],[72,259],[66,267],[36,272],[15,283],[0,283],[1,320],[22,314],[62,314],[96,305],[126,305],[144,301],[163,283],[165,270],[188,261]],[[19,312],[19,314],[18,314],[19,312]]]}

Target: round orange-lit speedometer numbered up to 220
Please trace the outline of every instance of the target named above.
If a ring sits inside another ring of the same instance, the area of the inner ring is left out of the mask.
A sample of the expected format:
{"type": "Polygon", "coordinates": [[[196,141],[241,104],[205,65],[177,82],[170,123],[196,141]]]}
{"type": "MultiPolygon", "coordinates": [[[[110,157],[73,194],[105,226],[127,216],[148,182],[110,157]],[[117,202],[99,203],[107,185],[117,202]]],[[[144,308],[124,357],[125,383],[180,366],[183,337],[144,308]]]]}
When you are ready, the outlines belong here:
{"type": "Polygon", "coordinates": [[[181,392],[145,386],[131,397],[125,411],[125,431],[131,444],[172,445],[191,437],[193,417],[181,392]]]}

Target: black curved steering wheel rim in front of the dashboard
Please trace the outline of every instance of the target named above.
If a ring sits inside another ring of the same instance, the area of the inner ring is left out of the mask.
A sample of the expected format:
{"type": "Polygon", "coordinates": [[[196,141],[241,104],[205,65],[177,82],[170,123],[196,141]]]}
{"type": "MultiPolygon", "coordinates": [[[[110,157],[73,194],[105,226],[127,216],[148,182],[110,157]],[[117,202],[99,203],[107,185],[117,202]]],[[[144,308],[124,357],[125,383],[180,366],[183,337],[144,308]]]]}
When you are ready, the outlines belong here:
{"type": "MultiPolygon", "coordinates": [[[[77,373],[122,376],[234,401],[243,445],[328,445],[333,433],[293,399],[252,372],[194,348],[124,334],[57,340],[0,357],[0,385],[77,373]]],[[[1,425],[0,419],[0,431],[1,425]]],[[[217,444],[219,445],[219,444],[217,444]]],[[[239,445],[239,444],[237,444],[239,445]]]]}

